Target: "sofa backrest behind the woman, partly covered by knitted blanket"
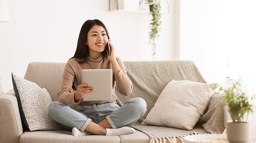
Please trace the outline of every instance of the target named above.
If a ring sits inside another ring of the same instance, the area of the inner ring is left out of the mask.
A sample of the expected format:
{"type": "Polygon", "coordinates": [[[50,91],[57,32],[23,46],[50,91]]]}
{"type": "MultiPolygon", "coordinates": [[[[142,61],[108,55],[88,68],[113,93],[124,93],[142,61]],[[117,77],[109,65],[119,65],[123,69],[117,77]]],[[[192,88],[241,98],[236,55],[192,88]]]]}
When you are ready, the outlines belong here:
{"type": "MultiPolygon", "coordinates": [[[[147,102],[146,117],[154,107],[158,96],[171,80],[190,80],[206,83],[199,70],[191,61],[124,61],[127,74],[133,84],[130,96],[122,96],[116,88],[117,103],[122,105],[128,99],[142,97],[147,102]]],[[[56,101],[56,95],[62,81],[65,63],[29,63],[25,73],[25,79],[35,82],[41,88],[46,88],[52,101],[56,101]]],[[[76,105],[70,106],[76,109],[76,105]]]]}

